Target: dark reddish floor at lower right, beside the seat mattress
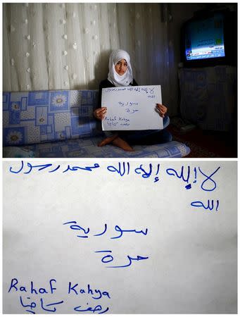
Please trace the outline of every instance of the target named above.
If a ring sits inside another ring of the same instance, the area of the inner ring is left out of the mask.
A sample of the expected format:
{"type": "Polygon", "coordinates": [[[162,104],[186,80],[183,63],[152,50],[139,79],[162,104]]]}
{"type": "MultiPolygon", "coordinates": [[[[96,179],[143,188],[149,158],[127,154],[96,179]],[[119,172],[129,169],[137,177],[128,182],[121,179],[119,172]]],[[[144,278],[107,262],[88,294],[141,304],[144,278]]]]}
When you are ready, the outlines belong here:
{"type": "Polygon", "coordinates": [[[168,130],[173,139],[187,144],[191,153],[187,158],[236,158],[237,137],[236,133],[201,130],[195,128],[189,132],[182,132],[174,125],[169,125],[168,130]]]}

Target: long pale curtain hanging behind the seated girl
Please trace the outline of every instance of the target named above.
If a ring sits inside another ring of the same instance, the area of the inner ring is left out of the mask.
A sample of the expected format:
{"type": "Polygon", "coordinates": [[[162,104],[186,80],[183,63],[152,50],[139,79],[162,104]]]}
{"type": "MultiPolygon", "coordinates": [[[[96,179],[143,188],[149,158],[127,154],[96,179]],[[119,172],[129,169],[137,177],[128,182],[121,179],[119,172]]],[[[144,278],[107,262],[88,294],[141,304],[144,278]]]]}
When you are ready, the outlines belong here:
{"type": "Polygon", "coordinates": [[[164,4],[4,4],[3,90],[98,89],[113,49],[130,53],[139,85],[177,104],[177,70],[164,4]]]}

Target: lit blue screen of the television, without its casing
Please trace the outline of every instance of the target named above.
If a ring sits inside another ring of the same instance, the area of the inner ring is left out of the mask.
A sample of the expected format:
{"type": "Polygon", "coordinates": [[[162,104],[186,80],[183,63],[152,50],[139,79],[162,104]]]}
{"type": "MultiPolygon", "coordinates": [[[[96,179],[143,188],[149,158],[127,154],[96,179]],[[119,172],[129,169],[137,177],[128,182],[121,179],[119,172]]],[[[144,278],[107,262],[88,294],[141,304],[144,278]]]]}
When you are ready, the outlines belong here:
{"type": "Polygon", "coordinates": [[[225,57],[224,15],[191,20],[185,29],[185,58],[187,61],[225,57]]]}

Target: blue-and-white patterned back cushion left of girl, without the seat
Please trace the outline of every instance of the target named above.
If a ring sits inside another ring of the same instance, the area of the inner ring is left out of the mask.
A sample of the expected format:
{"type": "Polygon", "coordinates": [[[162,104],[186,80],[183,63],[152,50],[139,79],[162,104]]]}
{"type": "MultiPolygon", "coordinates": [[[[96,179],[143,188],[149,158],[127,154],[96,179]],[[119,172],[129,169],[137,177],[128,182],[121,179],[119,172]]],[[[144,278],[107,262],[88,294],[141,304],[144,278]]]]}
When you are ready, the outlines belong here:
{"type": "Polygon", "coordinates": [[[93,118],[97,90],[4,92],[4,145],[99,135],[93,118]]]}

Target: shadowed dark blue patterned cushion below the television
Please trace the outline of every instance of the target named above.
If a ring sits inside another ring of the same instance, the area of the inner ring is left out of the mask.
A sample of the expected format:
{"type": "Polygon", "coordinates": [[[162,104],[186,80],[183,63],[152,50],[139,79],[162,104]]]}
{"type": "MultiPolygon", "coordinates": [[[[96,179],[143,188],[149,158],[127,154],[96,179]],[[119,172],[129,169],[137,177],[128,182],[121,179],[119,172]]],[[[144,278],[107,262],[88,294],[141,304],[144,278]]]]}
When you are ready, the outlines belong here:
{"type": "Polygon", "coordinates": [[[236,67],[179,68],[182,119],[203,130],[236,130],[236,67]]]}

